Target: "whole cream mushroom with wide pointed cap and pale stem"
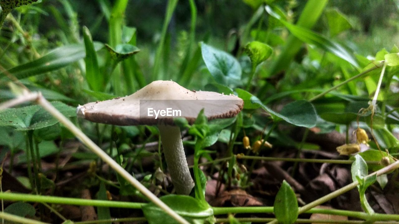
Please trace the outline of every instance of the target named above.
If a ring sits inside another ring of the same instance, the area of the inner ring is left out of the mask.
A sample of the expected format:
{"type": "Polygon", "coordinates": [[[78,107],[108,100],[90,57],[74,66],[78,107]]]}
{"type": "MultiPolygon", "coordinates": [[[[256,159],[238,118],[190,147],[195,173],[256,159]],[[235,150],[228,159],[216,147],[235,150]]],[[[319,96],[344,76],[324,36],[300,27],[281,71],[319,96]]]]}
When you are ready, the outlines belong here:
{"type": "Polygon", "coordinates": [[[183,117],[193,124],[202,109],[208,120],[231,118],[242,110],[243,105],[243,100],[235,95],[191,91],[173,81],[154,81],[130,96],[79,105],[77,114],[105,124],[157,125],[176,192],[188,195],[194,181],[184,154],[180,128],[174,126],[174,118],[183,117]]]}

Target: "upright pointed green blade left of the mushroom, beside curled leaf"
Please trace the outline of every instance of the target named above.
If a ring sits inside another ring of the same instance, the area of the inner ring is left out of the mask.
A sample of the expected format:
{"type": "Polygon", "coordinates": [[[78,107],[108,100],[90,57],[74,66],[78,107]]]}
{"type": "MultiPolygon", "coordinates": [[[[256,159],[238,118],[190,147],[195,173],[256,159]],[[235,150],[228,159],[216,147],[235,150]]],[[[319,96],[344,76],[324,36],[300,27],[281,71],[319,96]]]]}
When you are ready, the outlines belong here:
{"type": "Polygon", "coordinates": [[[103,75],[100,73],[97,53],[93,44],[93,38],[91,37],[89,29],[85,26],[83,26],[83,39],[85,41],[86,49],[85,64],[87,83],[93,91],[101,91],[104,84],[104,79],[103,75]]]}

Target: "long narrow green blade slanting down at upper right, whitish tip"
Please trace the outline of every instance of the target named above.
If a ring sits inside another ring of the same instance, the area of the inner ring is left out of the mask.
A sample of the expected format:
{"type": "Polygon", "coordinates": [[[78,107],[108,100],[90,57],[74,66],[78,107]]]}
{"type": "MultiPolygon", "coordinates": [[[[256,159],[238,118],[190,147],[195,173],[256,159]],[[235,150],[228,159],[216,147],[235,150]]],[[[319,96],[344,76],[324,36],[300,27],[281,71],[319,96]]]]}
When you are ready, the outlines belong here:
{"type": "Polygon", "coordinates": [[[273,12],[273,10],[269,7],[266,6],[266,11],[273,16],[274,18],[278,19],[284,26],[298,39],[305,43],[313,44],[316,45],[342,59],[345,61],[348,61],[350,64],[352,64],[355,67],[359,67],[358,62],[356,61],[355,57],[347,51],[344,47],[339,45],[338,43],[334,41],[330,41],[326,37],[323,37],[317,33],[314,33],[313,31],[310,31],[309,29],[302,28],[300,26],[296,26],[293,24],[290,24],[284,20],[280,19],[280,16],[273,12]]]}

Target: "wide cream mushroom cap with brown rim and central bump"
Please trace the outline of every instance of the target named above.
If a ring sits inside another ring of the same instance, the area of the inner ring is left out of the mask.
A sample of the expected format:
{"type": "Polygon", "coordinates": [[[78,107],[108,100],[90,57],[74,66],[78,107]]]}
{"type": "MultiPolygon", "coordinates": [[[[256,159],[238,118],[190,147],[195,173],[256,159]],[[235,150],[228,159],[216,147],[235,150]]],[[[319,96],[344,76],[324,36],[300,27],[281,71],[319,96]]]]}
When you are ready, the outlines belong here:
{"type": "Polygon", "coordinates": [[[130,96],[79,106],[77,114],[92,122],[120,126],[172,125],[177,117],[184,117],[190,124],[194,123],[201,109],[204,109],[208,120],[231,118],[243,106],[244,101],[232,94],[191,91],[173,81],[154,81],[130,96]],[[154,119],[154,116],[147,116],[148,108],[181,110],[181,116],[158,116],[154,119]]]}

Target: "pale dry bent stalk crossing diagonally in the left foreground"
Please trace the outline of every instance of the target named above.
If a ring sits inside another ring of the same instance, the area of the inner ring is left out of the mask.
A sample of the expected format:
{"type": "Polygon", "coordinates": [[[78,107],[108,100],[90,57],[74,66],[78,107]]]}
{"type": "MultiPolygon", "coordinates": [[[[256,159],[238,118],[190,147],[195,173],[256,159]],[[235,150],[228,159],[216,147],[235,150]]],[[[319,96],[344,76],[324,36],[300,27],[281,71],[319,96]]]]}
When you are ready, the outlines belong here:
{"type": "Polygon", "coordinates": [[[104,162],[112,167],[119,175],[126,179],[131,185],[136,187],[143,195],[147,196],[154,204],[158,205],[167,214],[172,216],[178,223],[189,224],[187,220],[182,218],[164,202],[162,202],[157,196],[149,191],[144,185],[137,181],[130,173],[124,170],[117,162],[115,162],[107,153],[105,153],[100,147],[98,147],[89,137],[87,137],[79,128],[77,128],[68,118],[66,118],[61,112],[59,112],[53,105],[51,105],[41,94],[41,92],[24,92],[18,98],[9,100],[0,104],[0,111],[11,106],[16,106],[24,102],[34,101],[42,106],[47,112],[49,112],[54,118],[56,118],[61,124],[63,124],[70,132],[72,132],[81,142],[89,147],[94,153],[97,154],[104,162]]]}

